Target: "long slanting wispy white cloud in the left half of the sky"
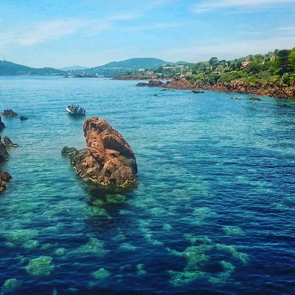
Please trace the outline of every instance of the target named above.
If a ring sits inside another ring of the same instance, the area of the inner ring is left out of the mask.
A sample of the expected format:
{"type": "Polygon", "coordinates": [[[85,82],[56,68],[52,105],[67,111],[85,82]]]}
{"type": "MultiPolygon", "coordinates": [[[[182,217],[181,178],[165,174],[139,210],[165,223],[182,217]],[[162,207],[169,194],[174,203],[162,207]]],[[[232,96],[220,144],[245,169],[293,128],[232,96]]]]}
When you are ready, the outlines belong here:
{"type": "Polygon", "coordinates": [[[47,22],[23,22],[2,29],[0,48],[19,45],[30,46],[48,40],[80,32],[83,35],[95,35],[112,29],[114,24],[140,17],[136,12],[113,14],[105,19],[55,19],[47,22]]]}

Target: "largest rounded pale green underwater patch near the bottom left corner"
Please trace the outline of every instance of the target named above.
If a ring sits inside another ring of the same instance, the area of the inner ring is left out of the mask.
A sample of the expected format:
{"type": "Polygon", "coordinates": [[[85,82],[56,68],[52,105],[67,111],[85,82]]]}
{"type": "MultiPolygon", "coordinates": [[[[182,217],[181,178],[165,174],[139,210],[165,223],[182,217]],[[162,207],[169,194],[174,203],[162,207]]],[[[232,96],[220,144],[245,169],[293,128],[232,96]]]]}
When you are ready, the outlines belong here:
{"type": "Polygon", "coordinates": [[[26,266],[27,273],[34,276],[49,276],[54,269],[51,262],[52,257],[50,256],[40,256],[30,259],[29,264],[26,266]]]}

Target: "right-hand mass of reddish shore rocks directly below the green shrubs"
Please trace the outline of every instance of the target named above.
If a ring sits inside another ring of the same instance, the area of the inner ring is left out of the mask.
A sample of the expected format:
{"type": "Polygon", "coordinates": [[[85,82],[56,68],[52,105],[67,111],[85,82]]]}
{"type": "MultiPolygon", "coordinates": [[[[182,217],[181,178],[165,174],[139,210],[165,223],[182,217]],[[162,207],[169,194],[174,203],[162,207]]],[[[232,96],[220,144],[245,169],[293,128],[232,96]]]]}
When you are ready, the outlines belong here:
{"type": "Polygon", "coordinates": [[[270,96],[275,98],[295,98],[295,86],[286,87],[278,83],[256,82],[255,85],[250,85],[244,81],[231,81],[230,83],[217,83],[215,85],[203,85],[203,89],[229,92],[253,94],[258,96],[270,96]]]}

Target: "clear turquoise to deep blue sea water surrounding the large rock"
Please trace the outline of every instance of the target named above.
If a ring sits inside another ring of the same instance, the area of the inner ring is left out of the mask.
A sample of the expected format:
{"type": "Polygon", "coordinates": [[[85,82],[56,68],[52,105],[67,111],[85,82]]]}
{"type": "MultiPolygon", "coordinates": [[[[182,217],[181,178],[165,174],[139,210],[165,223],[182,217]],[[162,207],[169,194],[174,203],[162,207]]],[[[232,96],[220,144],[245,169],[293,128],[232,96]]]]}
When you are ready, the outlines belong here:
{"type": "Polygon", "coordinates": [[[0,293],[294,294],[295,101],[136,83],[0,77],[0,110],[29,118],[2,117],[0,293]],[[137,186],[75,175],[71,103],[129,142],[137,186]]]}

